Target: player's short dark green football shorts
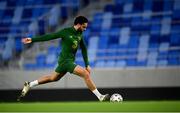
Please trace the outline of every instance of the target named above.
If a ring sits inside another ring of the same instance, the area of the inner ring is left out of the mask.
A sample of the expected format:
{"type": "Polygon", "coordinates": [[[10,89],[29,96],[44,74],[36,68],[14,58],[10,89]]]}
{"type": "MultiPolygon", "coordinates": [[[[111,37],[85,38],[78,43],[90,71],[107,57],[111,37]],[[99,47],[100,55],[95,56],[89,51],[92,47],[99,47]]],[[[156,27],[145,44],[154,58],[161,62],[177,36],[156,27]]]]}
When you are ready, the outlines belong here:
{"type": "Polygon", "coordinates": [[[55,71],[57,73],[66,73],[66,72],[73,73],[74,68],[76,66],[77,65],[73,61],[65,60],[65,61],[62,61],[62,62],[58,62],[58,66],[56,67],[55,71]]]}

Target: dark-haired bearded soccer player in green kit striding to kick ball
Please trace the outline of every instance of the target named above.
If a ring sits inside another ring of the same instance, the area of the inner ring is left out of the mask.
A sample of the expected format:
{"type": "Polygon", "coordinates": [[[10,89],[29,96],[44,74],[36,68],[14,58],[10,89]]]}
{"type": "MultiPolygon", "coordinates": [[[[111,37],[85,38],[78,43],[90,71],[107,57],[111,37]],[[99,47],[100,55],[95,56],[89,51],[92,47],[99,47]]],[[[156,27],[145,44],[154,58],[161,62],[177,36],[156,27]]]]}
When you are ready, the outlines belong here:
{"type": "Polygon", "coordinates": [[[18,101],[24,97],[28,91],[34,86],[45,84],[49,82],[55,82],[61,79],[67,72],[73,73],[82,77],[87,87],[97,96],[99,101],[105,101],[109,99],[109,94],[102,95],[96,88],[94,82],[90,77],[91,68],[89,66],[88,55],[86,45],[82,36],[82,32],[86,30],[88,26],[88,19],[84,16],[78,16],[74,20],[72,27],[64,28],[58,32],[37,36],[33,38],[23,38],[24,44],[48,41],[57,38],[62,39],[62,51],[58,58],[58,66],[55,71],[50,75],[42,76],[41,78],[32,82],[25,82],[21,95],[18,97],[18,101]],[[83,59],[85,62],[85,68],[74,63],[75,55],[78,47],[82,50],[83,59]]]}

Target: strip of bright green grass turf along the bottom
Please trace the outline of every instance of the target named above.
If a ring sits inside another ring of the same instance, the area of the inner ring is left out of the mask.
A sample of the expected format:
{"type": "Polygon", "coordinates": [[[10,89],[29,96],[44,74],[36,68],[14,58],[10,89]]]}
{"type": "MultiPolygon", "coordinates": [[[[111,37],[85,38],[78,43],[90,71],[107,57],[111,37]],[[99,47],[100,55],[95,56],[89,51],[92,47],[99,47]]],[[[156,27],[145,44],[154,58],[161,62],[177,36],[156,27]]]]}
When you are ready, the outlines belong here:
{"type": "Polygon", "coordinates": [[[179,112],[180,101],[0,103],[0,112],[179,112]]]}

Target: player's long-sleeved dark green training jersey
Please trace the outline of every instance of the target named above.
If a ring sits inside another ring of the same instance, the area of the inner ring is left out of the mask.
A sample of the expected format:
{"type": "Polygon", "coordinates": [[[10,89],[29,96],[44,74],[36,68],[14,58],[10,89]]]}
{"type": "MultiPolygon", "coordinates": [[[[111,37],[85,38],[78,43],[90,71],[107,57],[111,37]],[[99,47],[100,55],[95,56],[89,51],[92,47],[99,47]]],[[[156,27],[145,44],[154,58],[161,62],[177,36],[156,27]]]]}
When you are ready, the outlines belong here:
{"type": "Polygon", "coordinates": [[[80,46],[82,50],[85,66],[89,65],[87,49],[82,36],[82,32],[77,31],[74,27],[64,28],[58,32],[46,34],[42,36],[36,36],[32,38],[32,42],[41,42],[61,38],[62,50],[58,58],[58,62],[64,60],[75,61],[75,55],[80,46]]]}

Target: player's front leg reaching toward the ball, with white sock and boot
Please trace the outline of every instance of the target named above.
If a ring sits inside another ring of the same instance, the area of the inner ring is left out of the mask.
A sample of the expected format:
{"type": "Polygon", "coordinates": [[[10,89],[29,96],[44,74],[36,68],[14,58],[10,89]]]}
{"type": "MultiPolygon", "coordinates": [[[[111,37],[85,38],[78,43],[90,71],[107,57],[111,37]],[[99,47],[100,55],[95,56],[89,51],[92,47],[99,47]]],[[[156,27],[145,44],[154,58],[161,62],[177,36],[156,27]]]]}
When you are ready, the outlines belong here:
{"type": "Polygon", "coordinates": [[[73,74],[76,74],[80,77],[82,77],[87,85],[87,87],[97,96],[97,98],[100,101],[105,101],[107,99],[109,99],[109,94],[106,95],[102,95],[96,88],[94,82],[92,81],[91,77],[90,77],[90,73],[85,70],[83,67],[81,66],[76,66],[73,74]]]}

